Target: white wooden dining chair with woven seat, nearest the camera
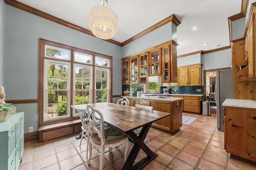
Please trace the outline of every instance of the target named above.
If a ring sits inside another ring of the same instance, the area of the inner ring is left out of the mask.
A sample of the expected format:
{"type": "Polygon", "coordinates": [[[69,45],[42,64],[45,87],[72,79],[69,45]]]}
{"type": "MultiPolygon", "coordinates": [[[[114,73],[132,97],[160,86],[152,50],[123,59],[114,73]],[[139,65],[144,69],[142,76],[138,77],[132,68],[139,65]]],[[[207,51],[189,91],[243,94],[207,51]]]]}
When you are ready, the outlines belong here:
{"type": "Polygon", "coordinates": [[[90,164],[90,160],[92,158],[92,146],[100,150],[100,170],[103,169],[105,148],[109,148],[109,151],[111,152],[113,147],[125,144],[126,149],[124,153],[124,160],[126,161],[129,150],[128,136],[114,127],[109,126],[104,128],[104,117],[102,113],[97,109],[93,109],[89,105],[86,106],[86,109],[90,124],[90,155],[88,164],[90,164]],[[100,126],[99,129],[97,128],[98,125],[100,126]]]}

